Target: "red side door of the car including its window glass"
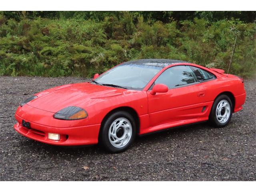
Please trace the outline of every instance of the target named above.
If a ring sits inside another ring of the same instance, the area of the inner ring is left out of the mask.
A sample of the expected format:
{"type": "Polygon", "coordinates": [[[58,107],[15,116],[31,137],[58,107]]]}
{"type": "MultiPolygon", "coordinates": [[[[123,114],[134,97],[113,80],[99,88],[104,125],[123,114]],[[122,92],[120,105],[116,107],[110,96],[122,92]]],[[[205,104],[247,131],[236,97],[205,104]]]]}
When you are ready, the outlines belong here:
{"type": "Polygon", "coordinates": [[[150,126],[196,118],[202,113],[205,88],[189,66],[166,69],[147,91],[150,126]],[[166,84],[168,92],[150,92],[154,84],[166,84]]]}

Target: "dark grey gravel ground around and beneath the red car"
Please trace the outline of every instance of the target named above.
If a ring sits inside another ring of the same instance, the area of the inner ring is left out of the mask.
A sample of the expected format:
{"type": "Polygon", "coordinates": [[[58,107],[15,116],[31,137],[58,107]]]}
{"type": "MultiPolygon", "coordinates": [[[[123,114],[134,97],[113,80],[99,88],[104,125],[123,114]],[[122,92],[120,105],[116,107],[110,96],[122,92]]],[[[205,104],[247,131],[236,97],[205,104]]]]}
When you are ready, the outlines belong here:
{"type": "Polygon", "coordinates": [[[66,148],[14,131],[17,106],[34,93],[83,78],[0,77],[0,180],[256,180],[256,80],[225,128],[187,126],[136,138],[126,152],[66,148]]]}

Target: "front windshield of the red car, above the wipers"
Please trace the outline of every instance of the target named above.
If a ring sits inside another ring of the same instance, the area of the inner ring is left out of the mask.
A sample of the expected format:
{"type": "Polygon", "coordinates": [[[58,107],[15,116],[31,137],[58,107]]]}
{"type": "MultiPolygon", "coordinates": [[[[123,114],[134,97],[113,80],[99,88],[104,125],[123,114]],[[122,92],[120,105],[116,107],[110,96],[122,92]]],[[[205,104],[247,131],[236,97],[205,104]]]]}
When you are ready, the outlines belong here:
{"type": "Polygon", "coordinates": [[[99,76],[94,83],[104,86],[142,90],[162,69],[159,66],[121,64],[99,76]]]}

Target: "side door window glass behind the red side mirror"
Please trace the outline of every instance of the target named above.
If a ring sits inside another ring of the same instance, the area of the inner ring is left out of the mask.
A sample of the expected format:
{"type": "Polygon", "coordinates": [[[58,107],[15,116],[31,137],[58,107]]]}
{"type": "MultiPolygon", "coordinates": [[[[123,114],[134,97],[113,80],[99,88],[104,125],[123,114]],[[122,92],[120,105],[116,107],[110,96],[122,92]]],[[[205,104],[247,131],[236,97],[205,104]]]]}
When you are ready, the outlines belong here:
{"type": "Polygon", "coordinates": [[[154,82],[165,84],[168,88],[177,88],[196,82],[189,66],[174,66],[166,69],[154,82]]]}

